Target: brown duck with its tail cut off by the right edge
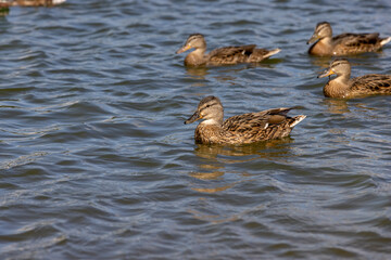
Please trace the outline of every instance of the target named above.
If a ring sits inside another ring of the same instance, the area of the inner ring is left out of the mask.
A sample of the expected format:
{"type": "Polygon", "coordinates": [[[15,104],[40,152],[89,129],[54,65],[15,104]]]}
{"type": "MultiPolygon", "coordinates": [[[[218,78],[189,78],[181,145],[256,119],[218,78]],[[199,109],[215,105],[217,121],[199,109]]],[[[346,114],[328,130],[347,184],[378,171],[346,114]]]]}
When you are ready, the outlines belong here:
{"type": "Polygon", "coordinates": [[[327,98],[361,98],[375,94],[391,94],[391,75],[368,74],[350,78],[351,65],[345,58],[336,58],[328,69],[318,75],[318,78],[329,76],[329,81],[324,87],[327,98]],[[337,75],[331,79],[331,75],[337,75]]]}

